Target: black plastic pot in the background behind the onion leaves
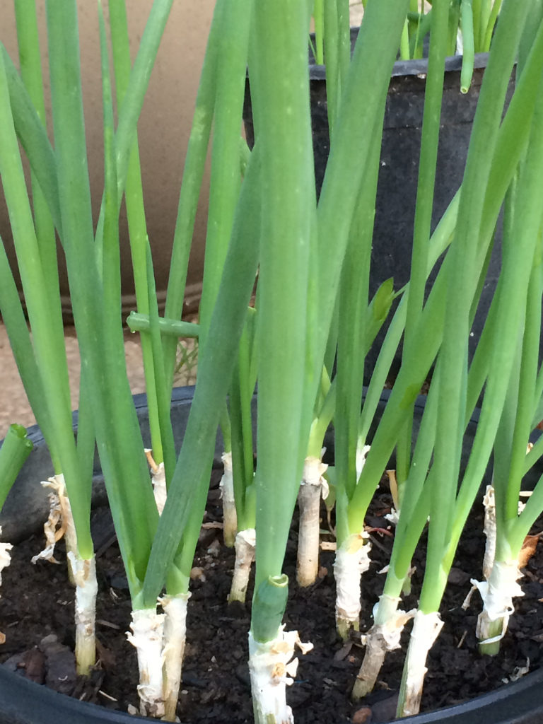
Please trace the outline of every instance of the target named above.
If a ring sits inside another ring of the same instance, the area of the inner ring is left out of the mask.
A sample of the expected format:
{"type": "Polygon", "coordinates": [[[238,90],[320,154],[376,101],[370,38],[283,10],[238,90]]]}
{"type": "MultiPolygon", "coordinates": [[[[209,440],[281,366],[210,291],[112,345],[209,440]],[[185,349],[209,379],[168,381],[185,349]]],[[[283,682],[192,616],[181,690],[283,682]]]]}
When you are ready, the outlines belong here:
{"type": "MultiPolygon", "coordinates": [[[[357,35],[358,28],[351,28],[352,46],[357,35]]],[[[476,54],[473,80],[471,88],[466,94],[460,93],[461,56],[447,58],[445,62],[432,230],[447,209],[463,179],[473,117],[479,100],[479,90],[487,60],[487,53],[476,54]]],[[[309,71],[316,189],[317,193],[320,193],[330,148],[326,75],[322,65],[310,64],[309,71]]],[[[374,294],[385,279],[393,277],[396,290],[403,287],[409,279],[418,155],[421,145],[427,72],[427,59],[398,61],[392,70],[384,113],[381,164],[371,251],[370,295],[374,294]]],[[[513,88],[514,75],[510,81],[509,97],[513,93],[513,88]]],[[[252,147],[254,127],[248,82],[245,88],[243,118],[248,144],[252,147]]],[[[353,153],[356,153],[356,148],[353,148],[353,153]]],[[[498,231],[479,309],[471,330],[470,359],[479,341],[496,288],[500,272],[500,239],[501,233],[498,231]]],[[[433,283],[436,273],[437,270],[432,272],[429,287],[433,283]]],[[[369,383],[386,329],[387,324],[379,332],[376,342],[366,356],[366,384],[369,383]]],[[[400,352],[392,367],[392,373],[395,372],[399,363],[400,352]]],[[[395,375],[393,374],[393,376],[395,375]]]]}

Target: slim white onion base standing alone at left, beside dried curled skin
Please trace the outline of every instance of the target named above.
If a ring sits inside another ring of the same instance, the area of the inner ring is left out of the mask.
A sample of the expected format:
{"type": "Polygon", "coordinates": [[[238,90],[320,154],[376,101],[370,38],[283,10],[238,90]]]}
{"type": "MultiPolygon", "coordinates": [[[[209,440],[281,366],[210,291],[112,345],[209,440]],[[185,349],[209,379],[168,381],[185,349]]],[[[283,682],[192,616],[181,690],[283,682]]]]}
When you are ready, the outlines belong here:
{"type": "Polygon", "coordinates": [[[77,673],[88,675],[96,662],[96,561],[68,552],[75,579],[75,661],[77,673]]]}

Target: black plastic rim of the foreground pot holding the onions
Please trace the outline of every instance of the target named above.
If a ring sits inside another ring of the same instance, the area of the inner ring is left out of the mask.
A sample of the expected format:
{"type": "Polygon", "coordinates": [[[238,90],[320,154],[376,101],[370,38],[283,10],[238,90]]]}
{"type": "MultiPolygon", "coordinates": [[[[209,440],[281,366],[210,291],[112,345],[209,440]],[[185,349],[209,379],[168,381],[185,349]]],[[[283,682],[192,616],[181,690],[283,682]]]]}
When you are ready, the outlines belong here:
{"type": "MultiPolygon", "coordinates": [[[[182,442],[185,432],[190,403],[193,397],[193,387],[182,387],[174,390],[172,397],[172,422],[177,447],[182,442]]],[[[384,409],[389,395],[385,392],[380,403],[380,410],[384,409]]],[[[146,396],[136,395],[135,405],[142,427],[143,438],[148,440],[148,413],[146,396]]],[[[424,408],[424,397],[416,403],[419,413],[424,408]]],[[[473,434],[476,426],[476,416],[468,429],[473,434]]],[[[77,413],[75,413],[77,426],[77,413]]],[[[415,426],[415,429],[417,427],[415,426]]],[[[51,465],[45,442],[38,427],[30,429],[30,438],[33,439],[35,450],[23,468],[16,486],[25,484],[25,479],[35,480],[38,474],[43,476],[41,466],[51,465]],[[40,473],[38,473],[40,470],[40,473]]],[[[327,441],[332,445],[332,439],[327,441]]],[[[217,438],[216,455],[219,457],[222,441],[217,438]]],[[[97,480],[99,471],[97,469],[97,480]]],[[[12,496],[17,497],[17,487],[12,496]]],[[[98,491],[99,494],[99,491],[98,491]]],[[[434,712],[419,714],[403,720],[412,724],[541,724],[543,722],[543,668],[526,675],[513,684],[503,686],[501,689],[484,694],[464,704],[436,710],[434,712]]],[[[248,696],[250,696],[248,692],[248,696]]],[[[80,702],[68,696],[57,694],[46,686],[39,686],[32,681],[9,672],[0,665],[0,724],[129,724],[133,721],[149,721],[143,717],[134,717],[123,712],[108,710],[88,702],[80,702]]],[[[216,722],[214,724],[225,724],[216,722]]],[[[332,723],[330,723],[332,724],[332,723]]]]}

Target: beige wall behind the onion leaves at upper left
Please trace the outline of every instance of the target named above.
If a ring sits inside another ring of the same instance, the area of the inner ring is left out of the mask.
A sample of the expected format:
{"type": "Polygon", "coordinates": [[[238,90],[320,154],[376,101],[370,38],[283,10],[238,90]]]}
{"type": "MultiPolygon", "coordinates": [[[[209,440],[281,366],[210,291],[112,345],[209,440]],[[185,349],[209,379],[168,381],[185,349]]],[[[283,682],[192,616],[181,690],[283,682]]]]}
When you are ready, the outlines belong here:
{"type": "MultiPolygon", "coordinates": [[[[80,8],[80,43],[89,170],[93,188],[93,209],[96,214],[103,185],[98,20],[96,1],[78,0],[77,4],[80,8]]],[[[42,48],[45,48],[44,0],[37,0],[37,5],[43,36],[42,48]]],[[[127,0],[132,57],[135,56],[138,48],[151,5],[152,0],[127,0]]],[[[107,3],[104,2],[104,6],[106,9],[107,3]]],[[[214,0],[174,0],[140,119],[139,139],[143,190],[148,235],[153,249],[156,284],[159,292],[164,292],[167,285],[182,167],[213,8],[214,0]]],[[[0,3],[0,39],[7,46],[12,59],[17,62],[14,11],[10,0],[2,0],[0,3]]],[[[46,60],[44,60],[45,77],[46,72],[46,60]]],[[[203,266],[207,179],[204,187],[196,220],[195,244],[190,260],[188,296],[198,293],[203,266]]],[[[3,198],[1,203],[3,204],[3,198]]],[[[11,248],[9,222],[4,206],[0,208],[0,234],[7,247],[11,248]]],[[[122,219],[122,258],[125,269],[124,277],[127,279],[123,283],[123,294],[126,306],[130,308],[130,295],[133,287],[130,283],[130,250],[124,219],[122,219]]],[[[62,292],[67,294],[67,282],[64,280],[62,284],[62,292]]]]}

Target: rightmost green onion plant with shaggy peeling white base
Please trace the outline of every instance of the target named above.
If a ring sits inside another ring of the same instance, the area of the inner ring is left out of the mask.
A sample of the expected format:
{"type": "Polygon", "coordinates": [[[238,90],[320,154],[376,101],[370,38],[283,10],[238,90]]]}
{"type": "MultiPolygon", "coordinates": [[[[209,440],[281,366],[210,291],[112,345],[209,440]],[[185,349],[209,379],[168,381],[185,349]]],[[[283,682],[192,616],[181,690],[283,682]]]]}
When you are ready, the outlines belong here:
{"type": "MultiPolygon", "coordinates": [[[[541,22],[540,10],[531,15],[531,20],[541,22]]],[[[537,25],[531,26],[527,22],[519,51],[519,70],[524,72],[531,57],[526,53],[526,43],[531,45],[530,41],[534,41],[536,32],[539,32],[537,25]]],[[[532,471],[540,458],[540,448],[534,450],[530,442],[540,422],[542,379],[539,360],[542,218],[538,205],[533,203],[542,160],[539,113],[539,102],[536,102],[526,153],[518,164],[505,203],[505,238],[515,248],[515,254],[518,251],[523,253],[523,247],[519,249],[517,246],[519,238],[530,240],[531,245],[524,253],[525,259],[530,258],[530,255],[533,255],[533,259],[531,264],[526,264],[529,273],[529,278],[525,277],[526,307],[520,312],[521,322],[516,328],[517,338],[513,345],[515,361],[494,445],[492,486],[487,489],[484,499],[487,506],[487,550],[483,565],[484,581],[476,582],[484,602],[477,623],[477,636],[484,654],[496,654],[500,649],[508,618],[513,613],[513,597],[522,594],[517,583],[518,578],[521,578],[521,548],[542,511],[540,481],[536,482],[535,487],[532,483],[533,490],[525,493],[529,495],[526,505],[519,500],[523,495],[523,478],[532,471]],[[523,224],[520,224],[522,214],[526,216],[523,224]]],[[[514,335],[515,330],[511,331],[514,335]]],[[[494,327],[492,332],[497,334],[499,327],[494,327]]]]}

